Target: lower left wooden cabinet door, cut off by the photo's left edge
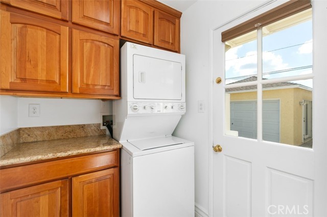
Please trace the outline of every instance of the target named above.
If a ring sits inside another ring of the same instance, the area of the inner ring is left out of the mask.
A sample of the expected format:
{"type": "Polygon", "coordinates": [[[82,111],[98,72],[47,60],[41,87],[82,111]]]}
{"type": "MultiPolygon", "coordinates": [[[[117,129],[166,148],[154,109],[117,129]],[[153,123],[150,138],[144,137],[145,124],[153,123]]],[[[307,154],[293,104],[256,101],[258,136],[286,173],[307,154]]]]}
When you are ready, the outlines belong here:
{"type": "Polygon", "coordinates": [[[68,180],[26,187],[0,195],[1,217],[68,216],[68,180]]]}

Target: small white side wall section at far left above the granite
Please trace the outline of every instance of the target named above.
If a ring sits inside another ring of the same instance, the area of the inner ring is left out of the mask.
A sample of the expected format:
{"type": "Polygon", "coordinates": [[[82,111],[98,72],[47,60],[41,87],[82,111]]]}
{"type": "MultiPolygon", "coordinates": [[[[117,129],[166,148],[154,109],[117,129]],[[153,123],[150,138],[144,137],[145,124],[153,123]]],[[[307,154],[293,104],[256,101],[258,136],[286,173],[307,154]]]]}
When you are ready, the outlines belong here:
{"type": "Polygon", "coordinates": [[[17,97],[0,96],[0,135],[18,127],[17,105],[17,97]]]}

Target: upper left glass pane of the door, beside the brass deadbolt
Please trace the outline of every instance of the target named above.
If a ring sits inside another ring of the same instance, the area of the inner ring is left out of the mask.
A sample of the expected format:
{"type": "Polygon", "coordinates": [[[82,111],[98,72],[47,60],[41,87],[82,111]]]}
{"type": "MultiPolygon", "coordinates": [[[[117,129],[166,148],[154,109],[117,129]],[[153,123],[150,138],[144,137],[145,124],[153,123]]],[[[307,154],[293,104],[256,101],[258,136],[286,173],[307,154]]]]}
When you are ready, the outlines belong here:
{"type": "Polygon", "coordinates": [[[225,83],[256,80],[256,31],[225,42],[225,83]]]}

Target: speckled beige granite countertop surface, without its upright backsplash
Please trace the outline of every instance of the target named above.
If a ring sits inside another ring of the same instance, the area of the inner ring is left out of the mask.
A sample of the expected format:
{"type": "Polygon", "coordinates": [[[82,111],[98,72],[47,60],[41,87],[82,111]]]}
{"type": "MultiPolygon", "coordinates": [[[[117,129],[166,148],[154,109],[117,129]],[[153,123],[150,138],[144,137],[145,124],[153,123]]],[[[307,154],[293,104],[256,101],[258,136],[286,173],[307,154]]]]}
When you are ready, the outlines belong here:
{"type": "Polygon", "coordinates": [[[122,145],[109,135],[19,143],[0,157],[0,166],[118,148],[122,148],[122,145]]]}

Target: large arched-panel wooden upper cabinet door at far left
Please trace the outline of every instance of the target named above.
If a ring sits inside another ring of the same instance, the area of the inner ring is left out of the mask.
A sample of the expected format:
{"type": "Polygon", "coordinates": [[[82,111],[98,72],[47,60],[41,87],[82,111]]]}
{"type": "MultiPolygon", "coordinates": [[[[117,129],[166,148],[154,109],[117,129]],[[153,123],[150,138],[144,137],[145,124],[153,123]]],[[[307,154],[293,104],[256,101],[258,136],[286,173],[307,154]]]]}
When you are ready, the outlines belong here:
{"type": "Polygon", "coordinates": [[[68,28],[1,11],[1,89],[68,91],[68,28]]]}

